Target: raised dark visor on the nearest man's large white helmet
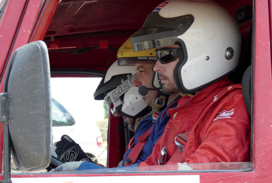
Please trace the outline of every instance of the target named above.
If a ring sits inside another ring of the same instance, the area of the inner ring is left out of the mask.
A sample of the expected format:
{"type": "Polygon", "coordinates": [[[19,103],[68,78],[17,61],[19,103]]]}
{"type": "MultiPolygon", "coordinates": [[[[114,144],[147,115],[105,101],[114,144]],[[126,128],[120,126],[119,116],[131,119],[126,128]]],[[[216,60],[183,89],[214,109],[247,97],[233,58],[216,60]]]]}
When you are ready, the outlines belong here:
{"type": "Polygon", "coordinates": [[[184,34],[194,21],[193,15],[164,18],[158,13],[149,13],[143,27],[130,41],[134,51],[173,45],[177,37],[184,34]]]}

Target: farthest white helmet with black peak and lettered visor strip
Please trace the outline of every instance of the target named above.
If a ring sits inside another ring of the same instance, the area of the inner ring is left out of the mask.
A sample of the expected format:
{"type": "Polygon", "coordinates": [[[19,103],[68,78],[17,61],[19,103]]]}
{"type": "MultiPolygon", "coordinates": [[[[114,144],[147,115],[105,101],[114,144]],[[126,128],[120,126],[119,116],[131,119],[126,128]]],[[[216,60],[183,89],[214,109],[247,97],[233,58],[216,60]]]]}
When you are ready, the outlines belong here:
{"type": "Polygon", "coordinates": [[[146,112],[148,108],[146,102],[138,92],[138,88],[133,86],[134,66],[118,66],[118,62],[113,63],[105,77],[100,82],[94,96],[95,99],[105,99],[110,104],[114,104],[112,114],[121,114],[136,118],[146,112]]]}

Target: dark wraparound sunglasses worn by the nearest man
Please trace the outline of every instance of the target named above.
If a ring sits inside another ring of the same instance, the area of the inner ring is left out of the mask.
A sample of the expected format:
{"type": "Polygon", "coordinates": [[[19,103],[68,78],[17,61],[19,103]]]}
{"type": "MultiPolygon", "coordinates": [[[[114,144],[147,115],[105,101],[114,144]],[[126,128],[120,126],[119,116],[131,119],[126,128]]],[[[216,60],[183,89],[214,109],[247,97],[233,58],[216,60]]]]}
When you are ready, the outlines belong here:
{"type": "MultiPolygon", "coordinates": [[[[161,64],[167,64],[173,62],[178,58],[178,56],[183,57],[183,49],[178,48],[160,48],[156,50],[156,57],[160,60],[161,64]]],[[[180,58],[182,59],[182,58],[180,58]]]]}

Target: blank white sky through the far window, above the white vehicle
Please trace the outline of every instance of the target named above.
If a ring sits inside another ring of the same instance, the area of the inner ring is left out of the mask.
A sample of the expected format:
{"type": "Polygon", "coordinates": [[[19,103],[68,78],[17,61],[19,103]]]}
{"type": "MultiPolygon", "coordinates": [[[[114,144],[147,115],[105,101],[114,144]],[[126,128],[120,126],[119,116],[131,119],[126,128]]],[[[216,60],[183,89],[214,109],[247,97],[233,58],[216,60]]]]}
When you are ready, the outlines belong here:
{"type": "Polygon", "coordinates": [[[103,100],[95,100],[94,92],[100,81],[97,77],[53,77],[51,95],[76,121],[99,121],[104,118],[103,100]]]}

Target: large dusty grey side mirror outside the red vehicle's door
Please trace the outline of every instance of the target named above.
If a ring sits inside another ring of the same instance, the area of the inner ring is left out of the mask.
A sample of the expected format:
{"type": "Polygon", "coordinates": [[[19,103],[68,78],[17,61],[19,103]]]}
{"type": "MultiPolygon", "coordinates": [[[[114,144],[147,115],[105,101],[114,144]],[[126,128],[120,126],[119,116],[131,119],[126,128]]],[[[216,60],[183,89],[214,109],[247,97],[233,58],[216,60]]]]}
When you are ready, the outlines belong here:
{"type": "Polygon", "coordinates": [[[16,166],[25,171],[46,168],[51,160],[52,108],[44,42],[31,42],[14,51],[1,94],[1,116],[8,123],[16,166]]]}

